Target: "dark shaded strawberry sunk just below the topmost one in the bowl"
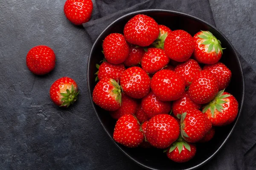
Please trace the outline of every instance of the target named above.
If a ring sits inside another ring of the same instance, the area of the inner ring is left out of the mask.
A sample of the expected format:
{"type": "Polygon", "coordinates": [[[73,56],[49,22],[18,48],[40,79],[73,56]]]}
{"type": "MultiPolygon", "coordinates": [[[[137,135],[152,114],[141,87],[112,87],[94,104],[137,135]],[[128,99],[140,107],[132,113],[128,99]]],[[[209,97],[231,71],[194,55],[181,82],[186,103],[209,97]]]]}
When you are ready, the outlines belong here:
{"type": "Polygon", "coordinates": [[[140,64],[144,52],[145,51],[142,47],[131,45],[129,56],[124,62],[125,66],[131,67],[140,64]]]}

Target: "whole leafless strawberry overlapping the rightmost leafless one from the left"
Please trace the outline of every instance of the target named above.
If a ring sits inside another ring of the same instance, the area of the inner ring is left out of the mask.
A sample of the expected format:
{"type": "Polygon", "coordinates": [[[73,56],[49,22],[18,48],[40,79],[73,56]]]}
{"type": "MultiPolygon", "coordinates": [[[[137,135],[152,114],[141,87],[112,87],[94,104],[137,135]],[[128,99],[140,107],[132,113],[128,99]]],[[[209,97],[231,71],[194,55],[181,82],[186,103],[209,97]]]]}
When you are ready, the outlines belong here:
{"type": "Polygon", "coordinates": [[[189,86],[189,97],[195,103],[210,102],[218,93],[218,80],[209,71],[203,70],[195,75],[189,86]]]}

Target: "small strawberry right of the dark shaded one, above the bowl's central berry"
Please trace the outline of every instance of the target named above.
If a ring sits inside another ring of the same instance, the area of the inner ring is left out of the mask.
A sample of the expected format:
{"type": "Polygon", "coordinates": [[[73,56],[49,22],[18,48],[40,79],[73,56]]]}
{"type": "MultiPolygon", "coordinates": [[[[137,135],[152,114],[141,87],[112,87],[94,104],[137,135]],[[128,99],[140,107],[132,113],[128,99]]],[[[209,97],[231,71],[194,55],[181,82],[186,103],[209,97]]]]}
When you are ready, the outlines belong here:
{"type": "Polygon", "coordinates": [[[148,48],[148,51],[145,52],[142,58],[141,67],[147,73],[152,74],[166,66],[169,61],[169,57],[166,56],[162,49],[148,48]]]}

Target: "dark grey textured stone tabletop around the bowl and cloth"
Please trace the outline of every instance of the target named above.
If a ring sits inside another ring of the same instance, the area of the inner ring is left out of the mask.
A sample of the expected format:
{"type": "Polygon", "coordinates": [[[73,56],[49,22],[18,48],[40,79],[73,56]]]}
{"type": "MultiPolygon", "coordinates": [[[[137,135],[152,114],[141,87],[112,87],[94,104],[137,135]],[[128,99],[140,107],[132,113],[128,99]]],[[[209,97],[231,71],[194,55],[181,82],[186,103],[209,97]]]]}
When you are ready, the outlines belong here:
{"type": "MultiPolygon", "coordinates": [[[[256,1],[209,1],[217,27],[256,71],[256,1]]],[[[88,55],[89,40],[84,28],[66,20],[63,6],[64,0],[0,1],[0,170],[141,169],[116,149],[90,105],[83,105],[87,59],[81,56],[88,55]],[[27,52],[40,44],[57,56],[55,70],[43,77],[26,68],[27,52]],[[48,92],[64,76],[81,90],[69,109],[53,105],[48,92]]]]}

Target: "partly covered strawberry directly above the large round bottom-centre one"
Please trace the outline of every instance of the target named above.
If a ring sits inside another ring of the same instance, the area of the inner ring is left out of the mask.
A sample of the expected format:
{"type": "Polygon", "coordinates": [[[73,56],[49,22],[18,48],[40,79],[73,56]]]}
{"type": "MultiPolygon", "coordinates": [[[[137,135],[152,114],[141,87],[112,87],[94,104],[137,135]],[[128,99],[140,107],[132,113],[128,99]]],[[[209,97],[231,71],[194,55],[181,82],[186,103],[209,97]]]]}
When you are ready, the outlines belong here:
{"type": "Polygon", "coordinates": [[[168,114],[171,111],[171,102],[163,102],[159,100],[152,92],[141,100],[142,110],[153,117],[157,114],[168,114]]]}

